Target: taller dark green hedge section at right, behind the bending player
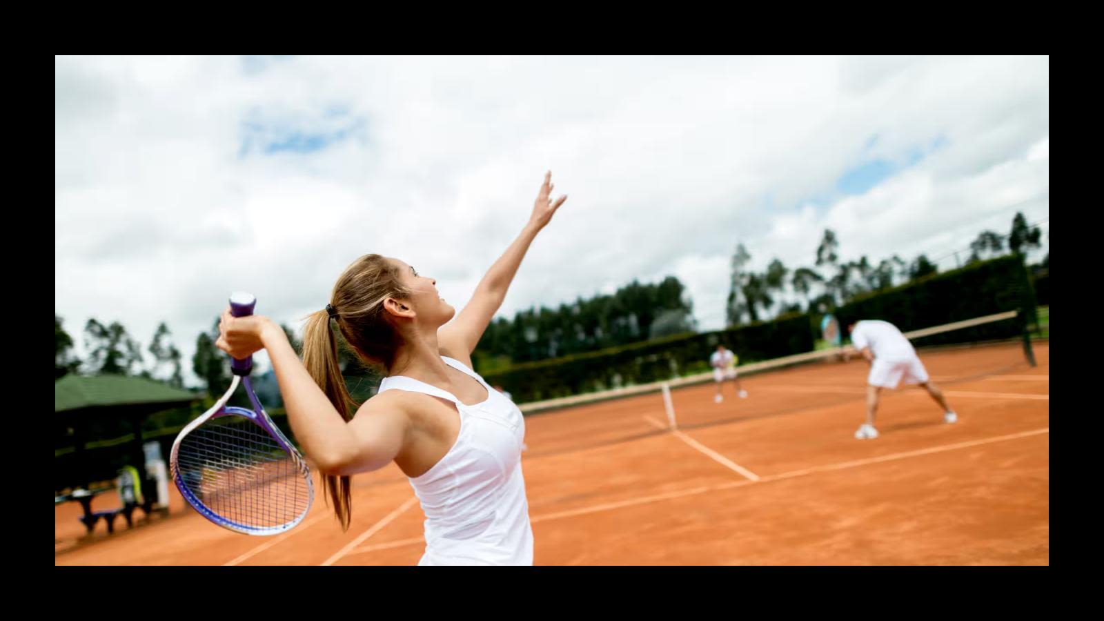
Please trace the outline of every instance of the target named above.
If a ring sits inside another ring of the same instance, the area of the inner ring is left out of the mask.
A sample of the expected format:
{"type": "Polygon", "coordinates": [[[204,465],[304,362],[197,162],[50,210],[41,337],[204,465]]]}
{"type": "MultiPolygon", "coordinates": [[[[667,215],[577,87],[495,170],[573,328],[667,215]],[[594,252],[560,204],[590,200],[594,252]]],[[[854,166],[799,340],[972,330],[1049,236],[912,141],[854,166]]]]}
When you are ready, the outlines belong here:
{"type": "Polygon", "coordinates": [[[1033,325],[1036,303],[1023,260],[1001,256],[951,272],[932,274],[884,292],[860,296],[836,309],[841,327],[860,319],[882,319],[901,331],[949,324],[1005,310],[1021,310],[1020,320],[996,322],[924,337],[921,345],[949,345],[1012,338],[1033,325]]]}

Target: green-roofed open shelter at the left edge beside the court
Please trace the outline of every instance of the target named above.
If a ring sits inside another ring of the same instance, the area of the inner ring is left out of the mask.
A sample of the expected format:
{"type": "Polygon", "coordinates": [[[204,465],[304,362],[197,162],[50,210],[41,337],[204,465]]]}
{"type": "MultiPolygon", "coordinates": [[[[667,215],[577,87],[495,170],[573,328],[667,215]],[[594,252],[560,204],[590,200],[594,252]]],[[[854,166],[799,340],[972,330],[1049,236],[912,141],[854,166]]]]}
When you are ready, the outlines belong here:
{"type": "MultiPolygon", "coordinates": [[[[123,419],[130,422],[134,440],[130,454],[135,466],[141,470],[142,434],[141,425],[146,417],[182,408],[201,398],[180,388],[141,377],[117,375],[77,376],[67,375],[54,382],[54,419],[62,429],[72,429],[73,449],[78,464],[84,464],[85,444],[102,438],[87,438],[87,428],[95,421],[123,419]]],[[[84,469],[82,467],[82,471],[84,469]]],[[[81,484],[88,482],[83,480],[81,484]]]]}

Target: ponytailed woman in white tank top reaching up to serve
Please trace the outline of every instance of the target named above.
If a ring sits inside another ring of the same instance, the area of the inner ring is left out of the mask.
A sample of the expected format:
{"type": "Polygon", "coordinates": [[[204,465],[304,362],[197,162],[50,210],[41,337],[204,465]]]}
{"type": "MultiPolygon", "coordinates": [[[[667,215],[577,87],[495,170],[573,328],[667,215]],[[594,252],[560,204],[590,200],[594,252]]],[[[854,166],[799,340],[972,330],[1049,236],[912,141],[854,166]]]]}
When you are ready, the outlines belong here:
{"type": "Polygon", "coordinates": [[[434,278],[378,254],[347,267],[326,309],[308,317],[302,362],[276,323],[223,313],[220,349],[235,358],[268,351],[291,430],[321,471],[342,529],[352,514],[350,475],[394,462],[426,516],[418,565],[532,565],[524,421],[471,369],[471,351],[529,244],[567,198],[552,201],[552,188],[548,172],[529,222],[459,315],[434,278]],[[338,367],[335,325],[360,358],[388,372],[359,408],[338,367]]]}

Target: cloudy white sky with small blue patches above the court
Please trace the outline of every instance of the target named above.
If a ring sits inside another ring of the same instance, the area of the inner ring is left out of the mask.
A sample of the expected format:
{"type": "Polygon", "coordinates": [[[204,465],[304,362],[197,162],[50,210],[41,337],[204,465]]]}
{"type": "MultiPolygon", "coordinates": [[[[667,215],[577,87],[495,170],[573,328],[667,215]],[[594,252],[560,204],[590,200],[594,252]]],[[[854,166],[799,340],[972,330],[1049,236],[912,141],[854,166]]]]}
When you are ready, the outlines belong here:
{"type": "MultiPolygon", "coordinates": [[[[955,266],[1022,211],[1049,252],[1048,57],[56,57],[55,312],[144,346],[231,291],[295,326],[357,256],[461,307],[545,170],[569,199],[500,313],[668,274],[723,327],[729,257],[955,266]]],[[[147,355],[148,356],[148,355],[147,355]]]]}

